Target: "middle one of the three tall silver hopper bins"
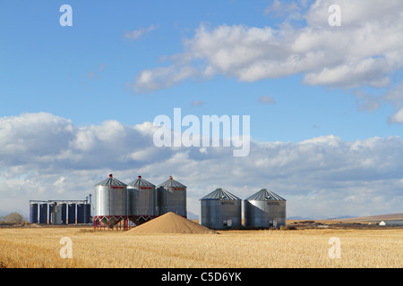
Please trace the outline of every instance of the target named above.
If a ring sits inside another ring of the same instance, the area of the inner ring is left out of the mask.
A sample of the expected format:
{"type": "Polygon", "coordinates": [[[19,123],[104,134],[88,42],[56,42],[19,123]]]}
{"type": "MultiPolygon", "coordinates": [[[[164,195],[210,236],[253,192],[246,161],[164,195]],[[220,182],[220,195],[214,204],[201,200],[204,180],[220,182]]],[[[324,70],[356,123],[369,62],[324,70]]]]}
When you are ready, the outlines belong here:
{"type": "Polygon", "coordinates": [[[155,185],[138,176],[127,185],[128,215],[155,215],[155,185]]]}

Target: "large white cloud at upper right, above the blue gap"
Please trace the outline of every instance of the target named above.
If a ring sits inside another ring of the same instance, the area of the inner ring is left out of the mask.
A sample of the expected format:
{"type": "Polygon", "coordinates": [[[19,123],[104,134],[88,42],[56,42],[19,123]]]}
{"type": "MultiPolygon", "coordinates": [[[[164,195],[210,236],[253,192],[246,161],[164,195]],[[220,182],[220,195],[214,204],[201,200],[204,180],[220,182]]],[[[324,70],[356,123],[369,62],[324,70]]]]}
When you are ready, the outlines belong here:
{"type": "MultiPolygon", "coordinates": [[[[278,27],[201,24],[193,38],[184,40],[184,51],[171,57],[171,65],[141,71],[131,88],[147,92],[219,74],[245,82],[301,74],[306,85],[390,88],[394,74],[403,68],[403,3],[340,0],[341,27],[328,23],[331,4],[334,1],[317,0],[307,7],[306,2],[274,1],[266,13],[286,17],[278,27]],[[284,16],[287,12],[293,13],[284,16]]],[[[390,122],[399,122],[397,116],[390,122]]]]}

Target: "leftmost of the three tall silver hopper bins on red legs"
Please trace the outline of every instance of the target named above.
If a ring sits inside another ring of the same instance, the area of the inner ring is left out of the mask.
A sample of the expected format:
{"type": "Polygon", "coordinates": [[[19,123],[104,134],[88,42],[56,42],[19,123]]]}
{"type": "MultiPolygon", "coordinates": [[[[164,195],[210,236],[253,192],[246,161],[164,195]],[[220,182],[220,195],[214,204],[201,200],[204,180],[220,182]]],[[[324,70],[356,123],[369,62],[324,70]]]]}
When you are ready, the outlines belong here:
{"type": "Polygon", "coordinates": [[[95,185],[94,216],[108,227],[127,218],[127,185],[112,174],[95,185]]]}

